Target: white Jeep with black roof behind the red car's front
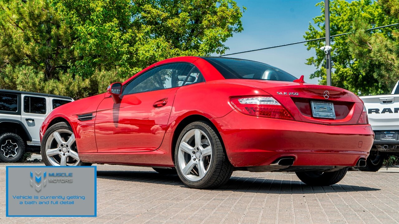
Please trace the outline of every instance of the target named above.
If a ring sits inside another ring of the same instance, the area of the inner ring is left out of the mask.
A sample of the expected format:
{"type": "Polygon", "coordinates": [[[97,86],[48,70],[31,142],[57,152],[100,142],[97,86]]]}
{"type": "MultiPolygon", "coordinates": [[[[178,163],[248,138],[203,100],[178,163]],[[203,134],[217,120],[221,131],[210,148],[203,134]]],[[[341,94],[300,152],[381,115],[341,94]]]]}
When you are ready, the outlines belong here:
{"type": "Polygon", "coordinates": [[[72,102],[66,96],[0,89],[0,162],[40,153],[40,126],[54,108],[72,102]]]}

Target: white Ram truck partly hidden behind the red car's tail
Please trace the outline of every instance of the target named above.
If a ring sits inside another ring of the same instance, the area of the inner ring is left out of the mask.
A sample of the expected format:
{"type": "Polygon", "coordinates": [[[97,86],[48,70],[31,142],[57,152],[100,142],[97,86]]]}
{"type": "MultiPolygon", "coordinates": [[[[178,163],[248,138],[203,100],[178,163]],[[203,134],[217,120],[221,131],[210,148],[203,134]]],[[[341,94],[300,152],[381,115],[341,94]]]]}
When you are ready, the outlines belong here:
{"type": "Polygon", "coordinates": [[[361,171],[378,171],[389,155],[399,155],[399,81],[389,95],[360,96],[375,133],[373,147],[361,171]]]}

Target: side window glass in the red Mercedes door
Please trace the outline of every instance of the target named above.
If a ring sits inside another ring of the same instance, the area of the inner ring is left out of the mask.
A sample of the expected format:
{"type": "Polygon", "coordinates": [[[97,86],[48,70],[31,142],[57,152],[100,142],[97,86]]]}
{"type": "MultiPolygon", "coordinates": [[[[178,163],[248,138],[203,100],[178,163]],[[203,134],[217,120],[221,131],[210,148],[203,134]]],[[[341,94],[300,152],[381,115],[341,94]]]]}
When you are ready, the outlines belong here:
{"type": "Polygon", "coordinates": [[[122,95],[182,86],[193,67],[188,63],[160,65],[126,84],[122,95]]]}

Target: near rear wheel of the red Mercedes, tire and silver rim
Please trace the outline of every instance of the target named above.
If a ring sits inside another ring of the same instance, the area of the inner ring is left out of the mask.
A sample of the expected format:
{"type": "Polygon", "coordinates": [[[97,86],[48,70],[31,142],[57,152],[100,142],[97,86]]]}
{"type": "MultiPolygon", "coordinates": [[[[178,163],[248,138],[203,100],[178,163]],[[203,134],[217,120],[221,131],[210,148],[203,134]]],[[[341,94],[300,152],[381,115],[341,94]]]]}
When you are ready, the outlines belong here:
{"type": "Polygon", "coordinates": [[[180,180],[195,189],[220,187],[233,173],[219,133],[206,121],[192,122],[182,130],[176,142],[175,167],[180,180]]]}

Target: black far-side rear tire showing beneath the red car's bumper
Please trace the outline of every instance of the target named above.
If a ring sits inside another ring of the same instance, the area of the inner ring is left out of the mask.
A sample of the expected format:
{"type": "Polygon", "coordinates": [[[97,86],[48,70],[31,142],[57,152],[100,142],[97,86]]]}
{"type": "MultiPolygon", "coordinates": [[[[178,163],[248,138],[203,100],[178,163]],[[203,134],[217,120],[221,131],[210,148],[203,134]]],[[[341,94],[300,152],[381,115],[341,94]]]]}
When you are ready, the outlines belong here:
{"type": "Polygon", "coordinates": [[[332,172],[295,172],[296,176],[305,184],[311,186],[330,186],[336,184],[345,177],[348,167],[332,172]]]}

